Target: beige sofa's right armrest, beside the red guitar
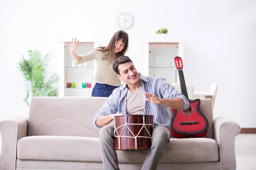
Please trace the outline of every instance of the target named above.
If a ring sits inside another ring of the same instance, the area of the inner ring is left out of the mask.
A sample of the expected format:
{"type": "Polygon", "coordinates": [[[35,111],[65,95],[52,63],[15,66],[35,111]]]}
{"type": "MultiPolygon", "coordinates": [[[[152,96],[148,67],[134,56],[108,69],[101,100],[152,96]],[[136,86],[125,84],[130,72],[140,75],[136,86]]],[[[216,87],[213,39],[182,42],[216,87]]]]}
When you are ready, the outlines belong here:
{"type": "Polygon", "coordinates": [[[229,117],[218,117],[213,121],[213,135],[218,144],[220,166],[224,170],[236,170],[235,139],[241,128],[229,117]]]}

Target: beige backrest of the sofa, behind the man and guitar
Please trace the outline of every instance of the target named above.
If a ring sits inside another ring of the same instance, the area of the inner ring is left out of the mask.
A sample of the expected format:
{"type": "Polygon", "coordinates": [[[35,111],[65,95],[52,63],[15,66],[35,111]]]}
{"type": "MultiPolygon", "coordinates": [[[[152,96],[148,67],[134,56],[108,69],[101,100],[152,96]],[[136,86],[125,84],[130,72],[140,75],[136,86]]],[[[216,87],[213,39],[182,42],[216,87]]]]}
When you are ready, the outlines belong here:
{"type": "MultiPolygon", "coordinates": [[[[87,136],[98,137],[94,114],[107,97],[32,97],[28,136],[87,136]]],[[[201,99],[200,110],[209,121],[207,138],[213,138],[212,101],[201,99]]],[[[111,124],[114,122],[112,121],[111,124]]]]}

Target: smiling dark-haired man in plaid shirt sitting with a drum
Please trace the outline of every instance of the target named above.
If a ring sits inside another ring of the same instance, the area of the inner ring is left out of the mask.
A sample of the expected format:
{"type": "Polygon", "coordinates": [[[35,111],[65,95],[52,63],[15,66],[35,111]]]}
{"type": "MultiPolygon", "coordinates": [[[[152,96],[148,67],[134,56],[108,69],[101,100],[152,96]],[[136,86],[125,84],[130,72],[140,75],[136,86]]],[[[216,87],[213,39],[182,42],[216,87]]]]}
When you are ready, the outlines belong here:
{"type": "Polygon", "coordinates": [[[119,170],[114,150],[114,127],[108,124],[118,115],[146,113],[154,116],[154,130],[151,148],[142,170],[156,170],[169,142],[169,107],[187,109],[189,101],[163,78],[139,74],[129,57],[122,56],[116,59],[113,70],[124,83],[113,91],[105,105],[94,116],[94,125],[102,127],[99,142],[104,169],[119,170]],[[117,111],[120,113],[116,113],[117,111]]]}

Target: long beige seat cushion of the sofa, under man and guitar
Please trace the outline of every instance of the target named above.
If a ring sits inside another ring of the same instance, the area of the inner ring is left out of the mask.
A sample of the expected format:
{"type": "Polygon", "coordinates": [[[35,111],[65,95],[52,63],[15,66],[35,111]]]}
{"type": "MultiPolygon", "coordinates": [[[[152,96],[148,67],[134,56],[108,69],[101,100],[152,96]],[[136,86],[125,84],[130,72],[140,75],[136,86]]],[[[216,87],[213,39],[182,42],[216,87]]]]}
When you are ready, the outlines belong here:
{"type": "MultiPolygon", "coordinates": [[[[143,163],[148,150],[117,150],[120,163],[143,163]]],[[[28,136],[17,142],[17,159],[102,162],[99,139],[80,136],[28,136]]],[[[218,146],[207,138],[170,139],[161,162],[218,161],[218,146]]]]}

